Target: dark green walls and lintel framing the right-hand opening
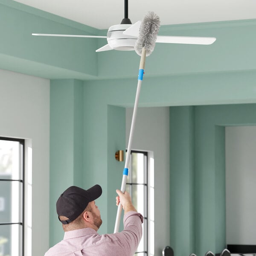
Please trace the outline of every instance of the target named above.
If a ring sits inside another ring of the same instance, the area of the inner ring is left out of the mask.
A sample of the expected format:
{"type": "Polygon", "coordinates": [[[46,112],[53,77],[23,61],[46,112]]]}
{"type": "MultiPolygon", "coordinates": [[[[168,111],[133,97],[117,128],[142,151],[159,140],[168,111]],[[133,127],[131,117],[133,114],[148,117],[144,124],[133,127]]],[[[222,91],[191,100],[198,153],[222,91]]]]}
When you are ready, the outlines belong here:
{"type": "Polygon", "coordinates": [[[170,245],[175,254],[226,247],[225,126],[256,125],[256,105],[170,108],[170,245]]]}

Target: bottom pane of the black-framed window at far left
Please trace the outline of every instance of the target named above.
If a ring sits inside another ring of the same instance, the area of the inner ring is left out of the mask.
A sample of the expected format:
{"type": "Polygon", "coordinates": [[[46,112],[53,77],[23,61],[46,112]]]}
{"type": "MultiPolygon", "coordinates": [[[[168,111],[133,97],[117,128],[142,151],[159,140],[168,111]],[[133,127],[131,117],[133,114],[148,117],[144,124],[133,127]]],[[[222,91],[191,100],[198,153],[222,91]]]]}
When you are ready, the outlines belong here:
{"type": "Polygon", "coordinates": [[[0,225],[0,255],[19,255],[20,224],[0,225]]]}

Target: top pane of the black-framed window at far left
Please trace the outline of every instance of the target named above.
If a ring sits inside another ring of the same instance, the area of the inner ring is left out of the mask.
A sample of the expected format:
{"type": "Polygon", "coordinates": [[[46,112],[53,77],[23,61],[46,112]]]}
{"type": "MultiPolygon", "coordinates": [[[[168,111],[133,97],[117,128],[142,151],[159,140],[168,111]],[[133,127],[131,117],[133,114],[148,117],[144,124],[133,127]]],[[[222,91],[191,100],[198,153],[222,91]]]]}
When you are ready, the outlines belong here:
{"type": "Polygon", "coordinates": [[[0,179],[20,179],[20,143],[0,140],[0,179]]]}

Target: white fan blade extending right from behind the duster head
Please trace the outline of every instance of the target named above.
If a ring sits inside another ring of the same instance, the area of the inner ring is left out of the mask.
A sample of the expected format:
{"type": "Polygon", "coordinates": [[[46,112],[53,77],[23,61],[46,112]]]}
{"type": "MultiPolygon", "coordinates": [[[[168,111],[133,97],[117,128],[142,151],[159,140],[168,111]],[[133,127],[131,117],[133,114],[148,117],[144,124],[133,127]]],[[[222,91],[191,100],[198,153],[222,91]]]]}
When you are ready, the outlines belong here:
{"type": "Polygon", "coordinates": [[[192,36],[157,36],[157,43],[170,44],[212,44],[216,38],[212,37],[192,37],[192,36]]]}

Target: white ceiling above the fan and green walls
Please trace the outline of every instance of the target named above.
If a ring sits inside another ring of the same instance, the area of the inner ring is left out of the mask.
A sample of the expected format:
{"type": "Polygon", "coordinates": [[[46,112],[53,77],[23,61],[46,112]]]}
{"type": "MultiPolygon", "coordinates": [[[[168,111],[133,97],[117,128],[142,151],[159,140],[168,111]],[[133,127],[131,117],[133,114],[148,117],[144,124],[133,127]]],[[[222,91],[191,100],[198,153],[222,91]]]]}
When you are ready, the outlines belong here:
{"type": "MultiPolygon", "coordinates": [[[[16,0],[97,29],[108,29],[124,17],[124,0],[16,0]]],[[[132,23],[155,12],[161,25],[256,18],[256,0],[129,0],[132,23]]]]}

